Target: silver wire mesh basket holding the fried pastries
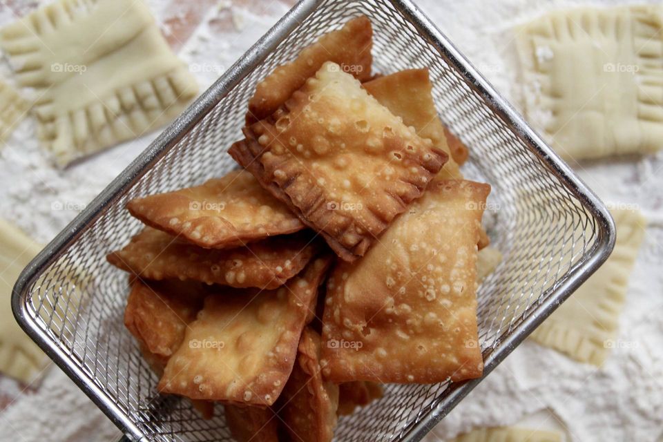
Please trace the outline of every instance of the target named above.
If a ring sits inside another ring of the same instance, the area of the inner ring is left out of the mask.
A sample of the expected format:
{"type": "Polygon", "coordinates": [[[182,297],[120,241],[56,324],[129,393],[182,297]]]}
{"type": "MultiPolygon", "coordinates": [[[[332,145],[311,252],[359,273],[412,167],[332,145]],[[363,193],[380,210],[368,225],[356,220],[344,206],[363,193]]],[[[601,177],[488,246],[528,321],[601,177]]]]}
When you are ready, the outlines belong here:
{"type": "MultiPolygon", "coordinates": [[[[605,207],[408,0],[302,0],[149,146],[21,274],[12,298],[26,332],[125,432],[145,441],[231,441],[222,413],[156,392],[122,323],[126,274],[105,260],[140,230],[128,200],[200,184],[235,167],[256,83],[357,15],[374,26],[380,73],[430,68],[438,111],[470,146],[465,175],[492,185],[490,235],[503,262],[479,288],[485,374],[602,264],[615,229],[605,207]]],[[[338,441],[417,441],[481,379],[387,385],[340,418],[338,441]]]]}

